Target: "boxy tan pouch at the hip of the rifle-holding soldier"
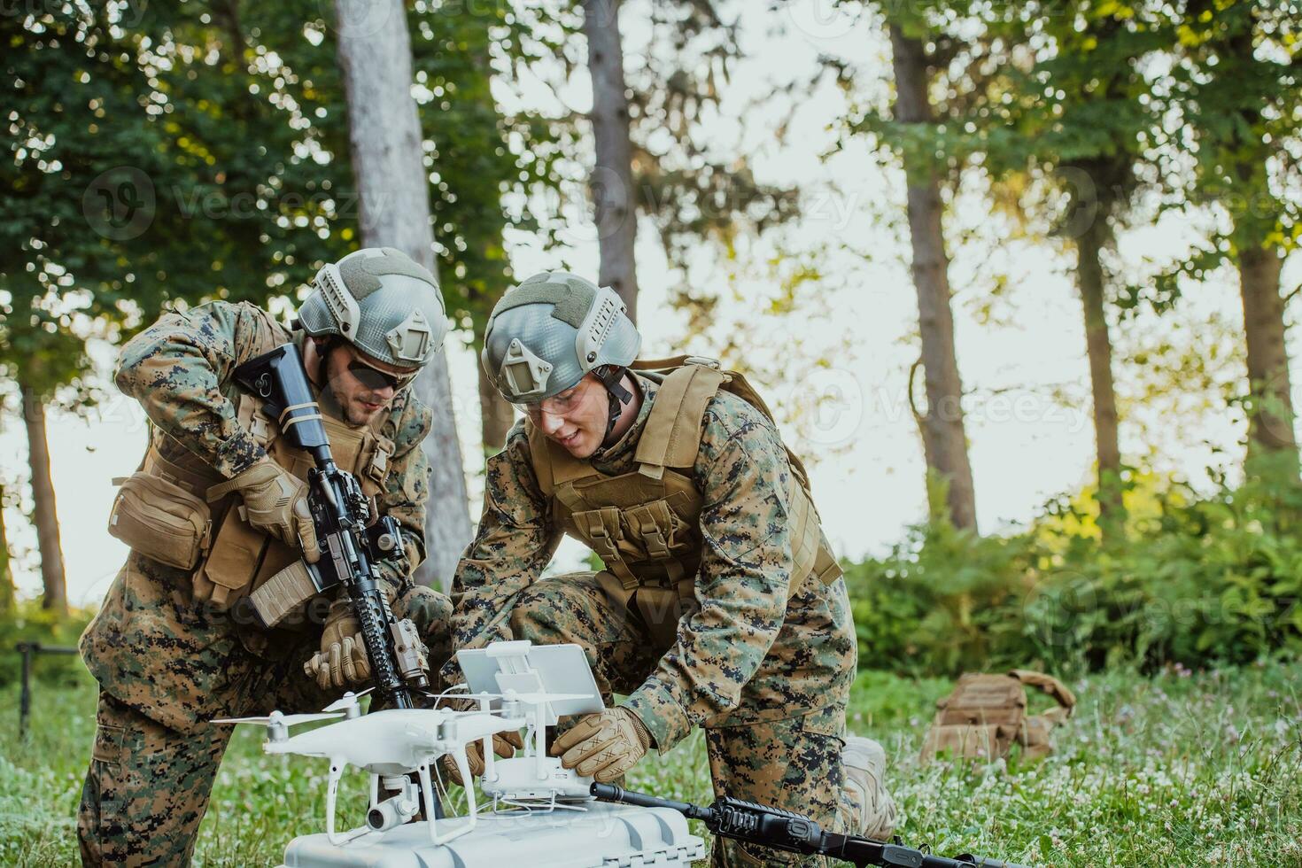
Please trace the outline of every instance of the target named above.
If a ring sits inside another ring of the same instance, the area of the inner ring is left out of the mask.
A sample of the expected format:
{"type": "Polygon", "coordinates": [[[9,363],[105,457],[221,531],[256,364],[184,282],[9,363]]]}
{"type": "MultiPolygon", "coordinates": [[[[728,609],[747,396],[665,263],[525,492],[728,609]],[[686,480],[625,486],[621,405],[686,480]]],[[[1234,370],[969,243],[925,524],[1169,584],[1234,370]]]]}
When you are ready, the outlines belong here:
{"type": "Polygon", "coordinates": [[[193,570],[208,548],[208,505],[161,476],[137,471],[121,481],[108,532],[147,558],[193,570]]]}

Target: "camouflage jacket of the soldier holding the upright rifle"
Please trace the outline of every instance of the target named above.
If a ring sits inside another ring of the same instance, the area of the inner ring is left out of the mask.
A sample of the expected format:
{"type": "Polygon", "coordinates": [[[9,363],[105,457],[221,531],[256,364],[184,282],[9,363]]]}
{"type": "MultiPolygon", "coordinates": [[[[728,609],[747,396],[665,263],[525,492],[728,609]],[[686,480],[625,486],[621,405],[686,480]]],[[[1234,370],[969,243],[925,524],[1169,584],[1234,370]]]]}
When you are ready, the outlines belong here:
{"type": "MultiPolygon", "coordinates": [[[[296,338],[301,333],[247,303],[214,302],[167,314],[122,347],[117,385],[145,407],[151,444],[164,458],[176,461],[187,450],[233,476],[266,453],[237,420],[232,372],[296,338]]],[[[322,409],[331,413],[328,402],[322,409]]],[[[428,475],[419,442],[428,428],[430,410],[410,389],[395,397],[380,423],[395,454],[376,500],[381,513],[401,523],[408,545],[405,563],[381,565],[381,580],[400,591],[410,586],[410,573],[424,554],[428,475]]],[[[197,603],[190,578],[132,552],[81,642],[103,690],[178,729],[224,713],[223,694],[234,690],[236,669],[243,666],[232,656],[240,645],[280,661],[286,677],[301,677],[296,670],[302,660],[289,656],[305,640],[289,630],[263,631],[238,608],[220,612],[197,603]]]]}

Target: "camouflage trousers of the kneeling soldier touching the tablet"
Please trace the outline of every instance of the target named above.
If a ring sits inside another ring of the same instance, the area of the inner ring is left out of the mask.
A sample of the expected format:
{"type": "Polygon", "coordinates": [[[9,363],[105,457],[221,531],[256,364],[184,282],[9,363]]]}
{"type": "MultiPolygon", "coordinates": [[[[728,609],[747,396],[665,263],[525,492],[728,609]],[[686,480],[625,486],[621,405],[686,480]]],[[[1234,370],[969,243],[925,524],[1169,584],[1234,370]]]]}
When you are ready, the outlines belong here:
{"type": "MultiPolygon", "coordinates": [[[[630,694],[668,651],[652,639],[635,606],[624,606],[591,573],[553,576],[531,584],[512,606],[512,639],[582,645],[602,696],[630,694]]],[[[806,815],[832,832],[858,828],[863,806],[844,786],[841,747],[845,698],[792,717],[706,729],[706,751],[716,796],[730,795],[806,815]],[[840,700],[840,701],[837,701],[840,700]]],[[[711,864],[822,864],[767,847],[716,839],[711,864]]]]}

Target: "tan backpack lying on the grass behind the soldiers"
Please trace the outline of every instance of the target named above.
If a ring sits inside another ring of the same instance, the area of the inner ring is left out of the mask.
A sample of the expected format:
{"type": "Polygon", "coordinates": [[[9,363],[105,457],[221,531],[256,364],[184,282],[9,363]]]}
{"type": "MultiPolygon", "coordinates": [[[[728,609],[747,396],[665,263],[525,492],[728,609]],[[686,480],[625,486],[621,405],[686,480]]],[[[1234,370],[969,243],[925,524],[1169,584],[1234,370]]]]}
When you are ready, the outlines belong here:
{"type": "Polygon", "coordinates": [[[1008,756],[1013,743],[1022,756],[1047,756],[1053,751],[1049,733],[1075,709],[1075,696],[1053,675],[1014,669],[1006,675],[966,673],[954,692],[936,703],[922,743],[922,760],[940,752],[956,757],[992,760],[1008,756]],[[1026,714],[1026,685],[1039,687],[1057,701],[1043,714],[1026,714]]]}

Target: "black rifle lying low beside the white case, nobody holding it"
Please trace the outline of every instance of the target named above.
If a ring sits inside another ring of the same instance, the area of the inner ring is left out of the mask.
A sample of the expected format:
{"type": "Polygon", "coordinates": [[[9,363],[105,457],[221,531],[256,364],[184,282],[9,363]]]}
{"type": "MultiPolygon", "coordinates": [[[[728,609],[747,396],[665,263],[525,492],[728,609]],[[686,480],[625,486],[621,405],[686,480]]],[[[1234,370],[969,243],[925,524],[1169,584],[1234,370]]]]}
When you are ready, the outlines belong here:
{"type": "Polygon", "coordinates": [[[687,802],[659,799],[629,793],[612,783],[594,783],[592,795],[602,802],[622,802],[643,808],[671,808],[689,820],[700,820],[720,838],[758,843],[806,856],[831,856],[854,865],[902,865],[906,868],[1022,868],[1010,861],[962,854],[953,859],[935,856],[898,843],[872,841],[859,835],[823,832],[816,822],[790,811],[724,796],[708,808],[687,802]]]}

